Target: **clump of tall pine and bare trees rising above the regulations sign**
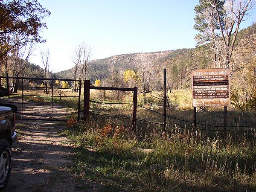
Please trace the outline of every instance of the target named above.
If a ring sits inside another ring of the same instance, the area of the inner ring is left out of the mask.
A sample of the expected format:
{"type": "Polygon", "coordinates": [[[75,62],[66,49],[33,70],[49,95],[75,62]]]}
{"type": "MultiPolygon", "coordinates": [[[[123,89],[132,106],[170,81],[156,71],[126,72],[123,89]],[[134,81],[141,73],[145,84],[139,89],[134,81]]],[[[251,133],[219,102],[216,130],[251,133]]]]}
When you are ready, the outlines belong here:
{"type": "Polygon", "coordinates": [[[230,67],[239,26],[253,9],[253,0],[200,0],[195,6],[199,44],[210,44],[215,67],[230,67]]]}

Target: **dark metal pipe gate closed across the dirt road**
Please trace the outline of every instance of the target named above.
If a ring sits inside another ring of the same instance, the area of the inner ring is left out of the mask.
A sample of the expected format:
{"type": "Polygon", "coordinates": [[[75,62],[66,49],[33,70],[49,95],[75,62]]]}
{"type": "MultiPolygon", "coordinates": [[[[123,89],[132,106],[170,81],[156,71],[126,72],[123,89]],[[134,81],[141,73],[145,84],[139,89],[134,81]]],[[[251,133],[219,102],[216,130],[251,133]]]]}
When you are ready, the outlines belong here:
{"type": "Polygon", "coordinates": [[[0,87],[9,90],[0,103],[16,105],[16,119],[67,121],[70,113],[80,119],[81,80],[0,76],[0,87]]]}

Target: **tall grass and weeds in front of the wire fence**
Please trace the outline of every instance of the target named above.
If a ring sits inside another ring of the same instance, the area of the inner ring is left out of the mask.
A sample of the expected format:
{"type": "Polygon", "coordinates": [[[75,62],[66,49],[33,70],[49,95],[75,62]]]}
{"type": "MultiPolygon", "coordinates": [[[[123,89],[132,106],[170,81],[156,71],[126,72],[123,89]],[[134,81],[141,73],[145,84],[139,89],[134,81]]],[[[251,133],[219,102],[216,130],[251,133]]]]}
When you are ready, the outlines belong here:
{"type": "Polygon", "coordinates": [[[103,191],[255,191],[256,135],[201,137],[176,128],[137,137],[124,122],[78,123],[73,173],[103,191]]]}

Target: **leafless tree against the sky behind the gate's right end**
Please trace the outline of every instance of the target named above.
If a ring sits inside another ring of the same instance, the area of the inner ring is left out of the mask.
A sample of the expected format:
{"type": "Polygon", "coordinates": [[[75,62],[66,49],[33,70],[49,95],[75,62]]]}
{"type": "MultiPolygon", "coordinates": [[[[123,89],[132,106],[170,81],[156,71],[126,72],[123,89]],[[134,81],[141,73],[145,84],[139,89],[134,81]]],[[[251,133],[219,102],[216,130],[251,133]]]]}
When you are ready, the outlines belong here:
{"type": "Polygon", "coordinates": [[[75,48],[73,54],[73,62],[75,64],[75,79],[77,78],[77,70],[80,72],[79,79],[83,81],[87,79],[87,69],[92,56],[92,48],[82,42],[75,48]]]}

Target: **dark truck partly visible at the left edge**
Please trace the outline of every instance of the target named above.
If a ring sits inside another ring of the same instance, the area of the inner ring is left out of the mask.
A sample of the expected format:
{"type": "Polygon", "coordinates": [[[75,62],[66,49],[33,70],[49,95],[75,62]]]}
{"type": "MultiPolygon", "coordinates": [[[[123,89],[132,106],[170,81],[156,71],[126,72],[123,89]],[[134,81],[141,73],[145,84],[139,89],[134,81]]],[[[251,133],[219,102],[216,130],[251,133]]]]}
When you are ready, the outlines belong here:
{"type": "Polygon", "coordinates": [[[7,185],[12,169],[12,146],[17,140],[14,105],[0,102],[0,191],[7,185]]]}

